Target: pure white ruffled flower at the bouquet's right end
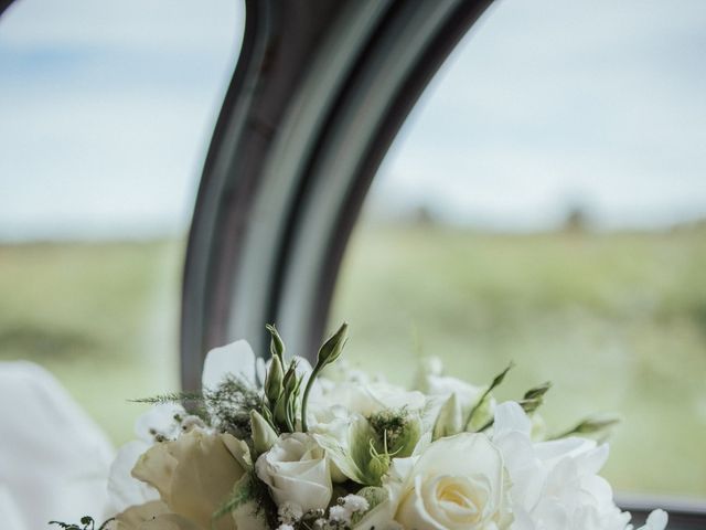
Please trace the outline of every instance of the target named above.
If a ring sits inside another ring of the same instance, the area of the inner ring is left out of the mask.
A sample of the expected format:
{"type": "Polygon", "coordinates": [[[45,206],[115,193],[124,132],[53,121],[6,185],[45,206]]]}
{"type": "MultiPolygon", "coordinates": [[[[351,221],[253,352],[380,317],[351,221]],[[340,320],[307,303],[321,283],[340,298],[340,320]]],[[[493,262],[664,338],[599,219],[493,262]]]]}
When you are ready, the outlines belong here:
{"type": "Polygon", "coordinates": [[[630,513],[620,511],[598,476],[608,446],[579,437],[533,443],[532,422],[514,402],[495,409],[493,431],[513,483],[513,530],[625,528],[630,513]]]}

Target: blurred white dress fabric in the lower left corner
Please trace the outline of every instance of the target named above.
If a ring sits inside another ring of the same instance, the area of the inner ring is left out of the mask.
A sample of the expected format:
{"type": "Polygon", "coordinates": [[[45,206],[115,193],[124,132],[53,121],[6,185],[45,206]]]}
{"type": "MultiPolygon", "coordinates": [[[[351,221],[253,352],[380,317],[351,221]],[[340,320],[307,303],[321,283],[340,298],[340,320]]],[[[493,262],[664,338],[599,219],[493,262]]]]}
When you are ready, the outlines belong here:
{"type": "Polygon", "coordinates": [[[0,520],[8,528],[103,517],[113,458],[105,434],[46,370],[0,362],[0,520]]]}

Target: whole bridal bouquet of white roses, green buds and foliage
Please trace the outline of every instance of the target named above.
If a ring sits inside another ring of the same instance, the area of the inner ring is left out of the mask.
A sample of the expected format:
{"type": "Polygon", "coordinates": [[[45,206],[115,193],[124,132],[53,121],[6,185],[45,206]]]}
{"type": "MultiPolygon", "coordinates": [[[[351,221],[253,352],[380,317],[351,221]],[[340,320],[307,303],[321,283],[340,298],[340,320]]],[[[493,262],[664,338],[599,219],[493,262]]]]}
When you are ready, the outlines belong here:
{"type": "MultiPolygon", "coordinates": [[[[203,390],[160,395],[141,439],[111,468],[115,530],[625,530],[598,475],[608,447],[585,421],[543,437],[535,414],[549,385],[498,403],[486,386],[424,368],[405,390],[336,363],[343,325],[312,368],[245,341],[208,352],[203,390]]],[[[663,530],[652,512],[645,530],[663,530]]],[[[58,523],[65,529],[92,528],[58,523]]]]}

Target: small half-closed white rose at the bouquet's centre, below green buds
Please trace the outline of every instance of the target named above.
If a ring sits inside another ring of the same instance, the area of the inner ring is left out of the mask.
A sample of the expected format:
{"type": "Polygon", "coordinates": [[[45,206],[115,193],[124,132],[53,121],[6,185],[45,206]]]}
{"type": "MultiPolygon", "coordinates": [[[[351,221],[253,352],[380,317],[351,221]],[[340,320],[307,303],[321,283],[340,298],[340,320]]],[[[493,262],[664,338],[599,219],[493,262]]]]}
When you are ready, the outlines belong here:
{"type": "Polygon", "coordinates": [[[306,433],[282,434],[255,464],[277,506],[289,501],[302,510],[329,506],[333,487],[324,451],[306,433]]]}

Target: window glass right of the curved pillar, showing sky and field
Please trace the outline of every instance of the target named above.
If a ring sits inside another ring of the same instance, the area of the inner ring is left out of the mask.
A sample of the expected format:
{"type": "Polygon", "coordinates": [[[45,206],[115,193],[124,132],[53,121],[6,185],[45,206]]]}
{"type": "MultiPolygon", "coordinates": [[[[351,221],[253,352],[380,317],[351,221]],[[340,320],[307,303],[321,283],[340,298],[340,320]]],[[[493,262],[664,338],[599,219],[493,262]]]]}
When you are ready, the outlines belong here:
{"type": "Polygon", "coordinates": [[[706,3],[495,4],[370,192],[331,327],[353,364],[545,380],[547,434],[619,412],[619,490],[706,497],[706,3]]]}

